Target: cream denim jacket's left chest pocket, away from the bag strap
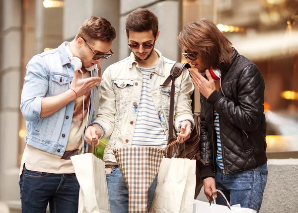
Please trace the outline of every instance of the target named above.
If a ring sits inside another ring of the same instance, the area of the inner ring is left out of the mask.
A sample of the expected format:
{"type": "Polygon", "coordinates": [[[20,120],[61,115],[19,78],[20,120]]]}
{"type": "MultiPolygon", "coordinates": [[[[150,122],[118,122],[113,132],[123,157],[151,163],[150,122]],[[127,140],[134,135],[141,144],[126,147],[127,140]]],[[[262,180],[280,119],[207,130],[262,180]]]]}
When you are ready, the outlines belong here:
{"type": "Polygon", "coordinates": [[[117,79],[113,80],[116,101],[121,105],[126,105],[131,101],[134,80],[131,79],[117,79]]]}

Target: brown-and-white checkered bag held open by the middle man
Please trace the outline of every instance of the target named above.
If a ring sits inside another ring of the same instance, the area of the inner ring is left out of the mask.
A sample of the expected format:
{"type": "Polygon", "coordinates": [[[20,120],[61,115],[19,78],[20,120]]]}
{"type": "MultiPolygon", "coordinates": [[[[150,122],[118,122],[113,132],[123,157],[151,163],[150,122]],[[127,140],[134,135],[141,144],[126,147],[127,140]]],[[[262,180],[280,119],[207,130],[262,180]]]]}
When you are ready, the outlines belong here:
{"type": "Polygon", "coordinates": [[[125,147],[114,151],[129,193],[129,213],[148,213],[148,191],[164,151],[152,147],[125,147]]]}

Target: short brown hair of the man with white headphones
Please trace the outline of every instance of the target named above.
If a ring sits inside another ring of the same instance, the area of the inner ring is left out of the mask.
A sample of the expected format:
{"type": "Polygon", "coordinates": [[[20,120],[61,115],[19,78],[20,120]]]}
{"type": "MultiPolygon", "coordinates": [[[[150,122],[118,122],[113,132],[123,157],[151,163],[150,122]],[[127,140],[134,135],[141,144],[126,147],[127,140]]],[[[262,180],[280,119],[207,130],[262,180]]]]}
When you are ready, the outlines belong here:
{"type": "Polygon", "coordinates": [[[88,41],[101,40],[110,42],[116,38],[116,30],[107,19],[91,16],[79,27],[75,40],[79,37],[83,37],[88,41]]]}

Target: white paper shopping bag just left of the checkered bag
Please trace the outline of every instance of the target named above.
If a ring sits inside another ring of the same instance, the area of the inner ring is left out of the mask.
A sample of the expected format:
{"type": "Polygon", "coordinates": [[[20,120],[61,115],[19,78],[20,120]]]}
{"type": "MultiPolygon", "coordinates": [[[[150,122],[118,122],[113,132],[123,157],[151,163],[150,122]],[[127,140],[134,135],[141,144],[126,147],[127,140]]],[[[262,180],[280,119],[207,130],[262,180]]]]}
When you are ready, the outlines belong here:
{"type": "Polygon", "coordinates": [[[104,162],[92,153],[71,159],[80,186],[78,213],[110,213],[104,162]]]}

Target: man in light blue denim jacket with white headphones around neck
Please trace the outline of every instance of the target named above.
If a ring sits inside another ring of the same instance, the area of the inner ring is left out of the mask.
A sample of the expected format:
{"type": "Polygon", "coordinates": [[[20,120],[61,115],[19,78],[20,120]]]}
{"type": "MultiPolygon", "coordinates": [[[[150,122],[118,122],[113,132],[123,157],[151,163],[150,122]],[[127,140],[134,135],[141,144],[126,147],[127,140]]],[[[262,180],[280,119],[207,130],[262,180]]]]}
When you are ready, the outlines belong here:
{"type": "Polygon", "coordinates": [[[87,149],[82,130],[93,120],[102,80],[97,64],[112,55],[115,37],[109,21],[91,17],[72,42],[29,61],[20,105],[27,125],[19,182],[23,213],[45,213],[48,203],[50,212],[77,213],[79,184],[70,157],[87,149]]]}

